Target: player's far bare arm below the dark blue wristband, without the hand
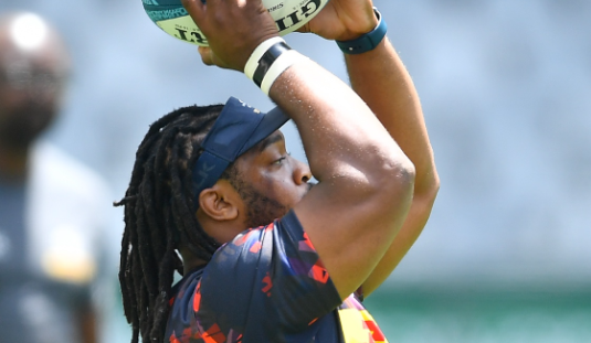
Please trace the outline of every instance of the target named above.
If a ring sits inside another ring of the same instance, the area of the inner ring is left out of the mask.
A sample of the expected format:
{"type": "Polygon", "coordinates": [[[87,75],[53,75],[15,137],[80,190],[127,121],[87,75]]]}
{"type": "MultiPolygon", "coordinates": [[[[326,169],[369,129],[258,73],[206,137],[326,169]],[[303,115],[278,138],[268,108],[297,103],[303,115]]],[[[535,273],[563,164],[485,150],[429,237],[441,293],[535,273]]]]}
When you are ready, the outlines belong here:
{"type": "Polygon", "coordinates": [[[386,37],[376,50],[346,55],[352,88],[369,105],[415,167],[411,210],[380,264],[363,282],[366,296],[380,286],[414,244],[439,191],[433,151],[412,79],[386,37]]]}

